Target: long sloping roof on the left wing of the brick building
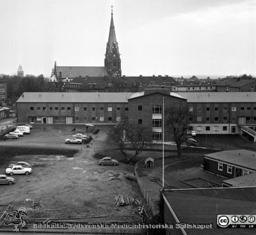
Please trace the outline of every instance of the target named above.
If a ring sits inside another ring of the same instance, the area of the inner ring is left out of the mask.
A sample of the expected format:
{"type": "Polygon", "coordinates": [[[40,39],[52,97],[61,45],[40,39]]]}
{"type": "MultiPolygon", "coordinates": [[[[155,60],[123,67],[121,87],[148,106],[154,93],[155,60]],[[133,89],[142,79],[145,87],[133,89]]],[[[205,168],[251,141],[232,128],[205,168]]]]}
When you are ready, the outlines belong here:
{"type": "Polygon", "coordinates": [[[17,103],[127,103],[131,93],[24,92],[17,103]]]}

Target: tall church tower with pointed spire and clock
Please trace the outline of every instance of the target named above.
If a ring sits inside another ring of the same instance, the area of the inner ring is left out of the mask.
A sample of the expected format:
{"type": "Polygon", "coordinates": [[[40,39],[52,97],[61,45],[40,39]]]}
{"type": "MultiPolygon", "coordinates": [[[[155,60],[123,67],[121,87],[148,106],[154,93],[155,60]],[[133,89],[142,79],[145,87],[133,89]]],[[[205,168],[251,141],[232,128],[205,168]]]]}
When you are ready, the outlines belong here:
{"type": "Polygon", "coordinates": [[[120,54],[118,49],[118,43],[116,42],[116,33],[115,33],[115,26],[114,26],[114,20],[113,20],[113,9],[111,9],[111,22],[110,22],[106,54],[104,59],[104,66],[107,68],[108,75],[110,77],[122,76],[121,59],[120,59],[120,54]]]}

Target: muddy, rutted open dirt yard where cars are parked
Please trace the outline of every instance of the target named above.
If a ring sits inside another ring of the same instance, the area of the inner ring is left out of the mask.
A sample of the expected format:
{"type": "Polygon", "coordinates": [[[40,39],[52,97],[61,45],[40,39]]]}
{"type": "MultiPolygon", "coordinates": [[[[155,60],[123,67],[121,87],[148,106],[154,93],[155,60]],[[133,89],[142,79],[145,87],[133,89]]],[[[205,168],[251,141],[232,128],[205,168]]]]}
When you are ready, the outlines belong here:
{"type": "MultiPolygon", "coordinates": [[[[118,194],[143,200],[137,183],[124,177],[126,172],[133,171],[133,167],[124,163],[118,166],[100,166],[93,158],[95,152],[108,146],[104,141],[106,132],[100,130],[93,136],[90,148],[86,148],[85,145],[63,143],[65,138],[74,133],[70,130],[70,127],[38,127],[20,139],[0,142],[0,148],[1,145],[27,145],[79,150],[74,157],[29,153],[12,156],[9,163],[29,162],[32,173],[28,176],[14,175],[14,185],[0,185],[0,204],[13,204],[16,209],[27,211],[30,218],[116,216],[116,220],[141,221],[135,206],[118,208],[114,205],[115,195],[118,194]],[[35,211],[33,201],[40,201],[41,204],[35,211]]],[[[7,166],[0,165],[0,174],[4,174],[7,166]]],[[[109,220],[107,217],[105,220],[109,220]]]]}

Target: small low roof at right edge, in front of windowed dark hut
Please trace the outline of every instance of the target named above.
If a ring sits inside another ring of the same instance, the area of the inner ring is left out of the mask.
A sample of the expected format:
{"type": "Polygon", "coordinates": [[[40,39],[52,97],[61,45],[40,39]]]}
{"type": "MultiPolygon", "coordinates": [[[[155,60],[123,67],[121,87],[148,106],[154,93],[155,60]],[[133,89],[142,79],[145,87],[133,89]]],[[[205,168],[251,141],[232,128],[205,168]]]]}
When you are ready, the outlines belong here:
{"type": "Polygon", "coordinates": [[[248,187],[256,186],[256,172],[246,174],[245,176],[239,176],[232,179],[223,180],[222,183],[226,183],[233,187],[248,187]]]}

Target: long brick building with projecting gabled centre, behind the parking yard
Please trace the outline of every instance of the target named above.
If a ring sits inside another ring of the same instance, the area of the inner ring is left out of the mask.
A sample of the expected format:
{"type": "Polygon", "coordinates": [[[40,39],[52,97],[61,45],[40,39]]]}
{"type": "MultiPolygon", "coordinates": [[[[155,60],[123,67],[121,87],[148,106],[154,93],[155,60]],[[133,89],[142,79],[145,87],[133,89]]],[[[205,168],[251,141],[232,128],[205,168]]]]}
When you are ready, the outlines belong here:
{"type": "MultiPolygon", "coordinates": [[[[154,140],[161,140],[163,97],[164,108],[186,105],[188,126],[197,134],[254,132],[253,92],[173,93],[156,88],[138,93],[23,93],[17,100],[17,117],[19,123],[43,125],[116,125],[128,119],[152,127],[154,140]]],[[[168,140],[167,131],[164,137],[168,140]]]]}

